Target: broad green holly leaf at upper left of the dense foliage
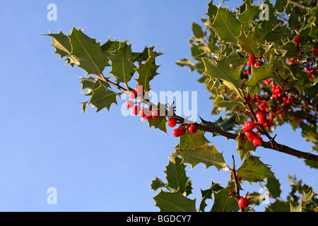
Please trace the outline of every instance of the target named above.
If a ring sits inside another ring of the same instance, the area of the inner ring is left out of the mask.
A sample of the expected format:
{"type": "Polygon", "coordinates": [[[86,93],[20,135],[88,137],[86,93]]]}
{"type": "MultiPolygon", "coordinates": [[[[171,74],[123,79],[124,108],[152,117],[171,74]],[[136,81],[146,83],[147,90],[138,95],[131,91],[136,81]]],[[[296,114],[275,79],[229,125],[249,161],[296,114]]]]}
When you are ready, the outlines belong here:
{"type": "Polygon", "coordinates": [[[211,28],[216,31],[220,40],[236,43],[240,35],[241,23],[228,8],[218,6],[218,13],[211,28]]]}

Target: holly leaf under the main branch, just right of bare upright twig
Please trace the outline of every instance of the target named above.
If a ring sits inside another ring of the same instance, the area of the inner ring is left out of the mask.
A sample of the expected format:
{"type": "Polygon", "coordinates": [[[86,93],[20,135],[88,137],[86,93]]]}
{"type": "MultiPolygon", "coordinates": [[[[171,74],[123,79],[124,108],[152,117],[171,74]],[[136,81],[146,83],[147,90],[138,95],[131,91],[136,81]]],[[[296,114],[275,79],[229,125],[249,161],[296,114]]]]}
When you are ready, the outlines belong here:
{"type": "Polygon", "coordinates": [[[264,164],[259,160],[259,157],[249,155],[239,169],[237,169],[237,180],[239,182],[247,181],[250,184],[253,182],[264,182],[266,178],[275,178],[269,165],[264,164]]]}

